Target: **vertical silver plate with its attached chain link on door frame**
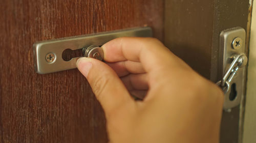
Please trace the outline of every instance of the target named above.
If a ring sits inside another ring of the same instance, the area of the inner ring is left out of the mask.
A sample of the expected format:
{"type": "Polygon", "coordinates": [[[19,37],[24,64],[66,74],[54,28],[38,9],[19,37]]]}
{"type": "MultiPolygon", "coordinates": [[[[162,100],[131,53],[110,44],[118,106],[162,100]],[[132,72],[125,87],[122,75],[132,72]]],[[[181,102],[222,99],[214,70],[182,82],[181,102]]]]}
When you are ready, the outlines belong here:
{"type": "Polygon", "coordinates": [[[227,111],[239,105],[244,94],[245,68],[243,67],[247,64],[245,36],[246,32],[242,27],[230,28],[220,34],[219,77],[221,80],[217,84],[225,94],[223,109],[227,111]],[[231,85],[235,85],[232,86],[236,88],[233,89],[235,93],[231,92],[231,85]],[[230,96],[233,97],[230,98],[230,96]]]}

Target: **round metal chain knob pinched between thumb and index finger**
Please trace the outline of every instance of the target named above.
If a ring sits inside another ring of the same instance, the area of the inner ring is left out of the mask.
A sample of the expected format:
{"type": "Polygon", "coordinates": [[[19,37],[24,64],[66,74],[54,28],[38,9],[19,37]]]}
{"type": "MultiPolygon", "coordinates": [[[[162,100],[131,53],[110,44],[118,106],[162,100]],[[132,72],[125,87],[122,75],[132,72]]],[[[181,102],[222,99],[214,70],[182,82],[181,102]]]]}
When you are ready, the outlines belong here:
{"type": "Polygon", "coordinates": [[[84,47],[82,52],[85,57],[94,58],[100,61],[102,61],[104,57],[103,49],[96,45],[84,47]]]}

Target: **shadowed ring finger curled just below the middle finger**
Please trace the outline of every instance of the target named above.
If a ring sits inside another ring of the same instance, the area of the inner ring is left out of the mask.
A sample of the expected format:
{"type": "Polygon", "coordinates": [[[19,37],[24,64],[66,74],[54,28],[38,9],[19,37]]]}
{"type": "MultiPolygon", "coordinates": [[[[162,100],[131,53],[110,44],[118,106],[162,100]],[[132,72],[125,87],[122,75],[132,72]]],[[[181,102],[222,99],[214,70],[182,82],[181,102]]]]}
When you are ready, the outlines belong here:
{"type": "Polygon", "coordinates": [[[127,90],[147,90],[147,74],[129,74],[121,78],[127,90]]]}

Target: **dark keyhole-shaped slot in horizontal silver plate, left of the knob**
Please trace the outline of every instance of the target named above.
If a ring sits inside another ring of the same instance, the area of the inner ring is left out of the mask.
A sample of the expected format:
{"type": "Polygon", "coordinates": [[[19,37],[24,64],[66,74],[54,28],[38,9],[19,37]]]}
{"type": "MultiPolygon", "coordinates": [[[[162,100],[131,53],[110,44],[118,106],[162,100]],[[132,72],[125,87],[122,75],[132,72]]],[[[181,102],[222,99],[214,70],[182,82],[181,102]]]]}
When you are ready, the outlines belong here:
{"type": "Polygon", "coordinates": [[[72,58],[77,58],[77,57],[81,57],[81,56],[83,56],[82,49],[76,49],[76,50],[65,49],[62,52],[62,59],[64,61],[70,61],[72,58]]]}

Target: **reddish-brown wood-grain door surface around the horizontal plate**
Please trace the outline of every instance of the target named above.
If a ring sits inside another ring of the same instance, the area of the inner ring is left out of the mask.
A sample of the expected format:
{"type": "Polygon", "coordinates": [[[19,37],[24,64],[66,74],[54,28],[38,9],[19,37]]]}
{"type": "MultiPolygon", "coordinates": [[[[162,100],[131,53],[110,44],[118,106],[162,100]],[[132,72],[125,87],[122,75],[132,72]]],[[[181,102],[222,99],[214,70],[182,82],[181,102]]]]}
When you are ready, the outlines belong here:
{"type": "Polygon", "coordinates": [[[36,41],[148,25],[159,0],[0,0],[0,142],[107,142],[104,113],[77,69],[34,72],[36,41]]]}

